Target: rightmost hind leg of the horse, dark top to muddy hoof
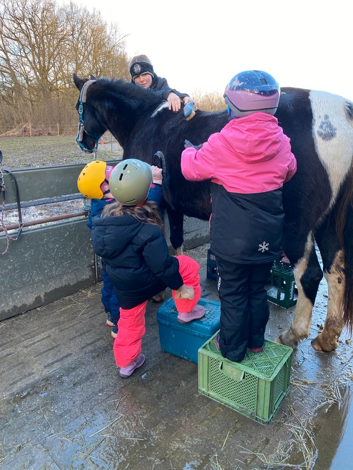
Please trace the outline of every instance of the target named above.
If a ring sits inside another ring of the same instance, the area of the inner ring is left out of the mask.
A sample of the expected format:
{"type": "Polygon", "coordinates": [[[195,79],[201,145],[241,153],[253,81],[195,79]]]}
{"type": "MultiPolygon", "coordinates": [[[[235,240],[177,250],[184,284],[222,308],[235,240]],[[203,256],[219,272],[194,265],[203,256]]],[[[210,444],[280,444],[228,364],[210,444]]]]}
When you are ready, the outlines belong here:
{"type": "Polygon", "coordinates": [[[329,219],[325,230],[315,235],[320,249],[324,275],[328,283],[328,312],[325,328],[311,341],[317,351],[333,351],[343,329],[343,300],[345,291],[345,266],[343,252],[336,234],[334,221],[329,219]]]}

